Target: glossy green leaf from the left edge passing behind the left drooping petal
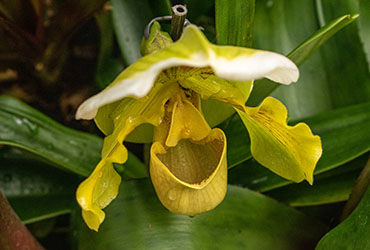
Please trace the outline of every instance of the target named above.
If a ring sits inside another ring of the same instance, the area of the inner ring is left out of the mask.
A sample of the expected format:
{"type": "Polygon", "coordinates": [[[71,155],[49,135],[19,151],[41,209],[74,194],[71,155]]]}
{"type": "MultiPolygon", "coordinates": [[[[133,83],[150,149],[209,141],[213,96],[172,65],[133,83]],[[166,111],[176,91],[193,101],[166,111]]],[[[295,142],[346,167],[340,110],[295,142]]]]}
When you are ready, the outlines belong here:
{"type": "MultiPolygon", "coordinates": [[[[23,148],[59,168],[88,176],[100,160],[102,142],[101,138],[67,128],[14,98],[0,97],[0,144],[23,148]]],[[[132,154],[124,167],[141,173],[130,177],[146,176],[145,167],[132,154]]]]}

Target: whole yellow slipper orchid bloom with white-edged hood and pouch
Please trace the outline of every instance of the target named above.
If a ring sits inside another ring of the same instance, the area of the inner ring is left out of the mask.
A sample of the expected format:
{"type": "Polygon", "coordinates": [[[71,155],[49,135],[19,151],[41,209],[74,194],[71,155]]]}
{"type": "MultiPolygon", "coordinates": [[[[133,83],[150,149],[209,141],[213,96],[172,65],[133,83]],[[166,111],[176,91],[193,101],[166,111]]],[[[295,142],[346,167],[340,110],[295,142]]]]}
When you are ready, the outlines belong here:
{"type": "Polygon", "coordinates": [[[175,43],[168,36],[155,41],[162,34],[159,29],[157,23],[152,26],[148,41],[155,46],[143,50],[150,54],[76,113],[77,119],[95,118],[106,134],[101,162],[77,190],[89,228],[98,230],[105,216],[102,209],[117,196],[121,179],[112,164],[127,160],[123,141],[129,134],[140,136],[137,131],[148,124],[154,127],[150,175],[162,204],[184,215],[216,207],[226,194],[226,138],[208,124],[225,118],[222,105],[241,116],[257,161],[282,177],[312,183],[320,138],[305,124],[288,126],[287,111],[276,99],[245,107],[253,80],[266,77],[290,84],[299,77],[295,64],[273,52],[213,45],[193,25],[175,43]],[[202,105],[216,101],[223,104],[205,119],[202,105]]]}

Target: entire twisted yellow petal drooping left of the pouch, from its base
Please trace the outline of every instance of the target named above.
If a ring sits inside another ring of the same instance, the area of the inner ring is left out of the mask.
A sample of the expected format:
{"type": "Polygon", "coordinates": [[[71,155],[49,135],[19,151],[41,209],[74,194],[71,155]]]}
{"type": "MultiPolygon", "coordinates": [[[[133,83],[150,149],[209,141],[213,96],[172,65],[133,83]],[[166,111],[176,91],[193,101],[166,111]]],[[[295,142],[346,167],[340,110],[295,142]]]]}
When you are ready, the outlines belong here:
{"type": "Polygon", "coordinates": [[[121,178],[112,163],[124,163],[127,160],[123,140],[142,123],[158,125],[164,115],[165,102],[178,91],[177,84],[158,84],[142,99],[126,98],[99,110],[100,116],[97,119],[109,118],[112,124],[97,124],[105,126],[106,130],[111,129],[111,134],[104,139],[102,160],[77,190],[77,201],[89,228],[98,230],[105,216],[102,208],[117,196],[121,178]]]}

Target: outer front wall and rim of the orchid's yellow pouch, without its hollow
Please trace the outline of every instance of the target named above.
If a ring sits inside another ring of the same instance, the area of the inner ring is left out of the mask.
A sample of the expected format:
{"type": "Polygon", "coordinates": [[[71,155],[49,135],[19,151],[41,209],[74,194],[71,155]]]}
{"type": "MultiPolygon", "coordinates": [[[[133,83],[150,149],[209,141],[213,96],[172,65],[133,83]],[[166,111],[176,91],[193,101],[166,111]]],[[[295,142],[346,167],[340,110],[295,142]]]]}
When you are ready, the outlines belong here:
{"type": "Polygon", "coordinates": [[[180,180],[159,160],[158,153],[166,152],[160,142],[151,148],[150,176],[163,206],[169,211],[194,216],[218,206],[227,191],[226,137],[222,130],[213,129],[204,140],[222,138],[223,147],[217,167],[200,184],[190,184],[180,180]]]}

